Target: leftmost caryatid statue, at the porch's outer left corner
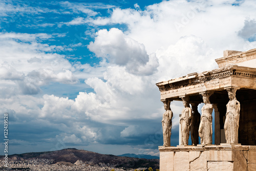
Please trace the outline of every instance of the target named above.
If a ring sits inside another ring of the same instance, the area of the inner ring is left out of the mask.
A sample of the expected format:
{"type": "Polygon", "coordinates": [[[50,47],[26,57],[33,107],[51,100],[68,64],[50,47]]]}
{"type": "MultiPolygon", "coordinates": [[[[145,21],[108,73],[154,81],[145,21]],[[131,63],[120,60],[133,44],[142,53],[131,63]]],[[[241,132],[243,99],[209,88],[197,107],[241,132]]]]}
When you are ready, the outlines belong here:
{"type": "Polygon", "coordinates": [[[165,112],[162,119],[163,127],[163,145],[170,146],[170,135],[172,134],[172,118],[173,112],[170,110],[170,101],[163,101],[165,112]]]}

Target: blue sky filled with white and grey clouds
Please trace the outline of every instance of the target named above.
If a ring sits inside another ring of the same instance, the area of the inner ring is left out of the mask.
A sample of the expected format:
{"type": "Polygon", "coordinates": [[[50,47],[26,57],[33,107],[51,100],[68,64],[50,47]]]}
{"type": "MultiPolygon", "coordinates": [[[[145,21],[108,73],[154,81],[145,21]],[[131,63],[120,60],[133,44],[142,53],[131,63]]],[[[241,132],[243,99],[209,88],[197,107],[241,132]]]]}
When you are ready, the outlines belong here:
{"type": "MultiPolygon", "coordinates": [[[[224,50],[255,48],[255,11],[254,0],[0,0],[9,155],[69,147],[159,155],[156,83],[218,68],[224,50]]],[[[176,146],[184,107],[170,108],[176,146]]]]}

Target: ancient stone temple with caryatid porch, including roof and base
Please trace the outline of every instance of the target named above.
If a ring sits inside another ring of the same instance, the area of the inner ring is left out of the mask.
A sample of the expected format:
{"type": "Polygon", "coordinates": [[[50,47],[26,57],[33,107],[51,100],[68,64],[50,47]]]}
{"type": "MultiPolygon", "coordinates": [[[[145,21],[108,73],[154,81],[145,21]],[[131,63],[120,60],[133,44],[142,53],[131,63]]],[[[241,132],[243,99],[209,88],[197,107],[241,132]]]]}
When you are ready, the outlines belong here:
{"type": "Polygon", "coordinates": [[[174,100],[184,104],[180,114],[173,114],[180,116],[180,144],[159,146],[160,171],[256,170],[256,49],[226,50],[216,62],[218,69],[156,84],[165,105],[174,100]],[[202,115],[196,116],[200,103],[202,115]],[[194,145],[187,144],[189,135],[194,145]]]}

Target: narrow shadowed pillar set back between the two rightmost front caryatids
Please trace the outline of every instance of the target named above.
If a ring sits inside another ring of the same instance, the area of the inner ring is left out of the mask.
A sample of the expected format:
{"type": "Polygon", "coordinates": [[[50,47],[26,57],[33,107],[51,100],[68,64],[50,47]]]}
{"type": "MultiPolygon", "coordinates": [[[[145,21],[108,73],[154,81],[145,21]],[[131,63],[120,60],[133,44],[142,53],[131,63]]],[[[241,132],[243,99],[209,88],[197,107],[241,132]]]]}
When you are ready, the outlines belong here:
{"type": "Polygon", "coordinates": [[[219,112],[217,104],[214,104],[213,106],[214,106],[214,112],[215,112],[215,114],[214,114],[215,144],[220,145],[221,144],[220,112],[219,112]]]}

